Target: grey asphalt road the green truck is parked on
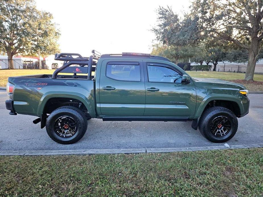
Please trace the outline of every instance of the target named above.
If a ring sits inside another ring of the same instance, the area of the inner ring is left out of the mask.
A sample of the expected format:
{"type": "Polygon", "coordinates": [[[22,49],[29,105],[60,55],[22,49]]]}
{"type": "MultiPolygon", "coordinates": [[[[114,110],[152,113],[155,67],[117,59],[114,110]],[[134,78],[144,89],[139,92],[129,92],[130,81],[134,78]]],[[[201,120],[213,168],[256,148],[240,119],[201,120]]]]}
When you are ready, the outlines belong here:
{"type": "MultiPolygon", "coordinates": [[[[34,116],[9,115],[6,91],[0,90],[0,150],[77,150],[127,148],[181,148],[222,146],[212,143],[187,122],[88,120],[84,137],[75,144],[62,145],[49,138],[45,128],[33,124],[34,116]]],[[[236,135],[229,145],[263,143],[263,94],[250,94],[249,114],[238,118],[236,135]]]]}

